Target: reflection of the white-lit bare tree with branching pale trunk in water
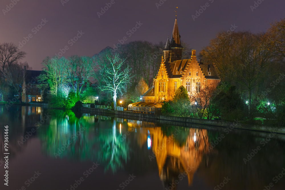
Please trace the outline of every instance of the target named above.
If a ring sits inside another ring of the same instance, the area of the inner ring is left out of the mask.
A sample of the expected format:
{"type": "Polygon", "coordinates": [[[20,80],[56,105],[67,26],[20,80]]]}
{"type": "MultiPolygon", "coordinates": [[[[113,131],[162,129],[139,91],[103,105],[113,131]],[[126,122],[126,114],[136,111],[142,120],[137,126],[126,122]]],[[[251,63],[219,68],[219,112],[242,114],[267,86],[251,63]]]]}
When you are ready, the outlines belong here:
{"type": "Polygon", "coordinates": [[[115,119],[109,132],[104,129],[104,132],[99,134],[99,142],[99,160],[106,164],[105,171],[111,169],[115,173],[123,168],[122,161],[127,162],[129,157],[129,142],[116,132],[115,119]]]}

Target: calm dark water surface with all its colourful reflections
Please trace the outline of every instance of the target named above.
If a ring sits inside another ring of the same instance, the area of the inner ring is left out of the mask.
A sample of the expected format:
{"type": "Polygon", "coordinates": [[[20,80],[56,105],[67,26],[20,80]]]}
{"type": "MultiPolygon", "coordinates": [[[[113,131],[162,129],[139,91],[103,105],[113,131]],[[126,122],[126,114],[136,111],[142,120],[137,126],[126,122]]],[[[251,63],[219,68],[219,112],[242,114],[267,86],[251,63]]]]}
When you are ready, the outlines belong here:
{"type": "Polygon", "coordinates": [[[0,107],[0,124],[0,189],[285,188],[283,135],[28,106],[0,107]]]}

